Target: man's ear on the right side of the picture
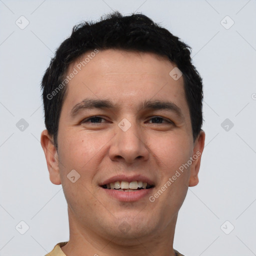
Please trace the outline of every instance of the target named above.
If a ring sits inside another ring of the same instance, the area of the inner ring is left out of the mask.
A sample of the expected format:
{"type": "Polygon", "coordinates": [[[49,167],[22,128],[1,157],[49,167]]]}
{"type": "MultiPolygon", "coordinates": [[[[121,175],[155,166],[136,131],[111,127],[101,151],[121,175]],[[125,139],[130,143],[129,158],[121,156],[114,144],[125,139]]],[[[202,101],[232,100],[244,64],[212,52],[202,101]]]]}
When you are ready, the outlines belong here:
{"type": "Polygon", "coordinates": [[[205,140],[205,132],[203,130],[200,131],[196,140],[194,141],[194,149],[193,149],[193,161],[190,166],[190,177],[188,186],[195,186],[198,184],[198,172],[200,168],[201,155],[204,148],[204,140],[205,140]]]}

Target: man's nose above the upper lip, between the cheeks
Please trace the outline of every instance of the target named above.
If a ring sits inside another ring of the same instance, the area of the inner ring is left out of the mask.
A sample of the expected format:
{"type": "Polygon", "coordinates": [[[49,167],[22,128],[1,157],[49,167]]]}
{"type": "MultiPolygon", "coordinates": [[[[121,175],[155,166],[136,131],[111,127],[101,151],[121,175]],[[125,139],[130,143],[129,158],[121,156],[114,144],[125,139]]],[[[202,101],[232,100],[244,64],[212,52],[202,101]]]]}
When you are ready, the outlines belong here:
{"type": "Polygon", "coordinates": [[[130,164],[148,159],[149,151],[146,138],[135,122],[125,131],[118,125],[115,128],[116,133],[111,140],[108,152],[112,161],[123,161],[130,164]]]}

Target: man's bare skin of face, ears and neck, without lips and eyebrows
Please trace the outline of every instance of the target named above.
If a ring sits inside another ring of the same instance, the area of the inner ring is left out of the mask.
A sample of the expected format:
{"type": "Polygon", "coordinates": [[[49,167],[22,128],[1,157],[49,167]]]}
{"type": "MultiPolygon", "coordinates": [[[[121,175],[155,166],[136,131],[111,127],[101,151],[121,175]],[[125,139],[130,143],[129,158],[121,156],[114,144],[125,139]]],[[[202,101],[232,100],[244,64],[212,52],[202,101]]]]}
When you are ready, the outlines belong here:
{"type": "Polygon", "coordinates": [[[61,247],[67,256],[175,255],[178,210],[188,186],[198,183],[201,155],[153,202],[148,196],[119,201],[99,186],[116,174],[142,174],[153,180],[153,195],[189,157],[202,153],[205,134],[201,130],[193,141],[183,78],[169,75],[174,66],[154,53],[100,50],[69,81],[58,149],[47,130],[41,133],[50,180],[62,184],[68,205],[70,239],[61,247]],[[112,100],[118,108],[85,109],[71,117],[72,107],[87,97],[112,100]],[[149,99],[175,103],[183,118],[165,109],[138,111],[139,103],[149,99]],[[103,119],[81,123],[95,115],[103,119]],[[154,116],[164,119],[157,123],[154,116]],[[118,127],[123,118],[131,123],[126,131],[118,127]],[[72,169],[80,174],[74,183],[67,178],[72,169]]]}

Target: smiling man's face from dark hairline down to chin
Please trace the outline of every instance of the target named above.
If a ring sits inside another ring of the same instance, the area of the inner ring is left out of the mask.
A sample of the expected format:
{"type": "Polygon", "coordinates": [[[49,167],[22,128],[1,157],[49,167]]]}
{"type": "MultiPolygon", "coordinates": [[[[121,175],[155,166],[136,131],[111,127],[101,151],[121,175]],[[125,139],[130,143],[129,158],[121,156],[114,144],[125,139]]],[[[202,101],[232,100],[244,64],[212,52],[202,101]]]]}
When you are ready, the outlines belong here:
{"type": "Polygon", "coordinates": [[[187,187],[198,182],[200,157],[187,164],[189,157],[203,148],[203,142],[193,142],[183,78],[174,80],[173,68],[153,53],[109,49],[69,81],[58,126],[58,168],[50,177],[63,186],[70,225],[127,242],[173,227],[187,187]],[[77,107],[89,99],[113,107],[77,107]],[[147,182],[150,188],[109,189],[115,181],[134,188],[147,182]]]}

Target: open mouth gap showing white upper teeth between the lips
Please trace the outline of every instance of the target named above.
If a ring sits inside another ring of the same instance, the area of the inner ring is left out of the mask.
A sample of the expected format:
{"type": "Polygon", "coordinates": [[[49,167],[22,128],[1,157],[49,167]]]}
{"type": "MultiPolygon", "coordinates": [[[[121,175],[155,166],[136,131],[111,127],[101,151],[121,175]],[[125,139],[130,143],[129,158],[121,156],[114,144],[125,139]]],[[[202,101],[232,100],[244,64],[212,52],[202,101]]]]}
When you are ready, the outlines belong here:
{"type": "Polygon", "coordinates": [[[101,187],[105,189],[115,189],[117,191],[125,191],[125,192],[134,192],[141,189],[149,189],[154,187],[153,185],[148,184],[143,181],[115,181],[108,184],[104,184],[101,187]]]}

